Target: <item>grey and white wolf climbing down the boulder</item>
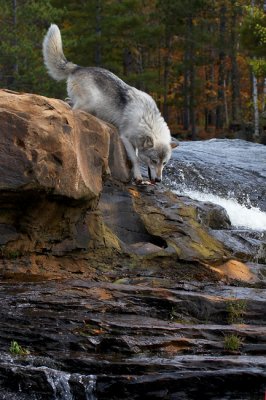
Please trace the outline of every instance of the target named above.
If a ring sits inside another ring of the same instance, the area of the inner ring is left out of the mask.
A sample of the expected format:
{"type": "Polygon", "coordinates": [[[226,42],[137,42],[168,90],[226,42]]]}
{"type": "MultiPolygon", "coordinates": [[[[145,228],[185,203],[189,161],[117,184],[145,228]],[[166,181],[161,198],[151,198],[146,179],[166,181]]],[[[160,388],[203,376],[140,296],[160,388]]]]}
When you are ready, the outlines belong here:
{"type": "Polygon", "coordinates": [[[162,180],[171,157],[171,135],[155,101],[103,68],[80,67],[67,61],[61,33],[52,24],[43,41],[44,63],[55,80],[67,80],[74,109],[89,112],[115,125],[132,163],[133,177],[143,183],[140,162],[148,166],[152,183],[162,180]]]}

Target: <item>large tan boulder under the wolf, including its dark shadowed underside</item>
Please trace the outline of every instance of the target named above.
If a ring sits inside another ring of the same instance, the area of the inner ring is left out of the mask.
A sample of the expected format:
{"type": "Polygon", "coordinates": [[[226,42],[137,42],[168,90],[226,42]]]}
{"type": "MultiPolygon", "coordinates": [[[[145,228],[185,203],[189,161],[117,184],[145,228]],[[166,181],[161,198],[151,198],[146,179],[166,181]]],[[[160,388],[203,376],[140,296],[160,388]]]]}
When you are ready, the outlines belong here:
{"type": "Polygon", "coordinates": [[[129,178],[115,128],[60,100],[0,90],[0,131],[2,254],[103,245],[104,178],[129,178]]]}

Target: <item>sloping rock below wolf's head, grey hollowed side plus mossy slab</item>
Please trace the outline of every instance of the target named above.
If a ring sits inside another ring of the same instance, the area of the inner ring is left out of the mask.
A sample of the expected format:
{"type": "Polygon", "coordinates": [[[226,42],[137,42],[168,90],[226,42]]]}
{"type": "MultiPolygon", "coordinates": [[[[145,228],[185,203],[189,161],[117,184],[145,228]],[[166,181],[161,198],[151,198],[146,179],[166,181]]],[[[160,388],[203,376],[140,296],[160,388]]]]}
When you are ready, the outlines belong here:
{"type": "Polygon", "coordinates": [[[229,255],[200,225],[196,206],[164,189],[127,189],[111,183],[104,188],[99,209],[130,253],[176,255],[194,261],[223,260],[229,255]]]}

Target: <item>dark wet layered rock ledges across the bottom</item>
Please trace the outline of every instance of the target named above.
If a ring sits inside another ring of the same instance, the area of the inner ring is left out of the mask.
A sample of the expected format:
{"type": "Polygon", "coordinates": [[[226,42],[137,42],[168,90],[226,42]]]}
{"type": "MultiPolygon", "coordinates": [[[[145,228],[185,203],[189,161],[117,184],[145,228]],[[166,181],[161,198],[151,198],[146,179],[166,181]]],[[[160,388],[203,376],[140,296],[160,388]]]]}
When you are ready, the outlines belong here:
{"type": "MultiPolygon", "coordinates": [[[[155,279],[158,271],[150,272],[155,279]]],[[[16,400],[33,394],[38,400],[144,394],[189,400],[199,387],[211,400],[249,398],[254,387],[263,393],[265,290],[206,281],[195,282],[194,291],[192,282],[176,290],[175,275],[168,289],[163,280],[156,288],[143,279],[141,285],[1,282],[1,389],[16,400]],[[241,322],[230,323],[228,304],[237,309],[243,300],[241,322]],[[224,350],[228,335],[241,338],[237,354],[224,350]],[[3,352],[11,338],[31,354],[3,352]],[[243,376],[246,384],[240,385],[243,376]]]]}

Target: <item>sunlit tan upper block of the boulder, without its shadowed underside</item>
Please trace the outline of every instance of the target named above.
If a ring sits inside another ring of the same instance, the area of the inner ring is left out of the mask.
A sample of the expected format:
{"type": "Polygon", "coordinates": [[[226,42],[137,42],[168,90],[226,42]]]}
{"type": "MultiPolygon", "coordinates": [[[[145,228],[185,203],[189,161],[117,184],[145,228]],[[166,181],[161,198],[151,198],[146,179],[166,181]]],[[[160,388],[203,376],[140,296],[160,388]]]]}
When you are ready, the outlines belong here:
{"type": "MultiPolygon", "coordinates": [[[[0,127],[2,192],[33,189],[91,200],[109,172],[110,138],[115,162],[125,163],[114,128],[60,100],[1,90],[0,127]]],[[[127,179],[123,169],[124,176],[117,173],[127,179]]]]}

